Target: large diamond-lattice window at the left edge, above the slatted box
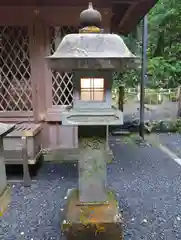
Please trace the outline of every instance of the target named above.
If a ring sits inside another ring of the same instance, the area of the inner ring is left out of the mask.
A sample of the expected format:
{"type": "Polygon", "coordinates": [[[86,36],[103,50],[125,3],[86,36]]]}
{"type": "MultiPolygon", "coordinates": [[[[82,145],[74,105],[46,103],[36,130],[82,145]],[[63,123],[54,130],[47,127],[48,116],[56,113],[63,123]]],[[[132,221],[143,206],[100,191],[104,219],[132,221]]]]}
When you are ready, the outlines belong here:
{"type": "Polygon", "coordinates": [[[0,111],[32,111],[28,27],[0,26],[0,111]]]}

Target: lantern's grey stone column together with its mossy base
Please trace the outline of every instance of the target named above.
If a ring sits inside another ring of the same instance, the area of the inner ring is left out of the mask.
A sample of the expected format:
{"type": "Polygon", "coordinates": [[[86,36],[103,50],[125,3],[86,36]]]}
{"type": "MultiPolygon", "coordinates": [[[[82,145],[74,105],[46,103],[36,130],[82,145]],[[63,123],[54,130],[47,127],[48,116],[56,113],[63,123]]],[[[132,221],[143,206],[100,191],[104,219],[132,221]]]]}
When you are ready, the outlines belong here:
{"type": "Polygon", "coordinates": [[[110,160],[107,126],[79,126],[79,186],[68,193],[62,227],[68,239],[87,234],[122,239],[115,194],[106,187],[110,160]]]}

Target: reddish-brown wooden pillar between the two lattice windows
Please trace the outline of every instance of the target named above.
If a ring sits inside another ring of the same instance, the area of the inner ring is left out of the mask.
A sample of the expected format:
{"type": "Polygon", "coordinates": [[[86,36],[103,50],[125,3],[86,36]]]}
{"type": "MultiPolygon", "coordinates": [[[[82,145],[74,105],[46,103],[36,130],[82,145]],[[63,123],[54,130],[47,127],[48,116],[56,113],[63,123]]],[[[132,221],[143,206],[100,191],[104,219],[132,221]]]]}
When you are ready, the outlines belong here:
{"type": "Polygon", "coordinates": [[[34,120],[38,122],[46,112],[45,27],[38,21],[30,27],[30,55],[34,120]]]}

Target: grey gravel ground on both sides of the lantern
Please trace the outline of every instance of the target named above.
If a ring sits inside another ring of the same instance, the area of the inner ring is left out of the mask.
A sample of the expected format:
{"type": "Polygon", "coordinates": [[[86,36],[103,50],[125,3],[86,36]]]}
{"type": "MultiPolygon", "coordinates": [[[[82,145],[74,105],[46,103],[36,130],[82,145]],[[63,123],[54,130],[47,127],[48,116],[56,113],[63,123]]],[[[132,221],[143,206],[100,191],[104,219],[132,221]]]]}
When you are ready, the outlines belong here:
{"type": "MultiPolygon", "coordinates": [[[[111,137],[115,159],[108,184],[124,213],[125,240],[181,239],[181,167],[156,147],[111,137]]],[[[0,220],[2,240],[59,240],[61,209],[77,166],[44,164],[37,183],[13,186],[9,211],[0,220]]]]}

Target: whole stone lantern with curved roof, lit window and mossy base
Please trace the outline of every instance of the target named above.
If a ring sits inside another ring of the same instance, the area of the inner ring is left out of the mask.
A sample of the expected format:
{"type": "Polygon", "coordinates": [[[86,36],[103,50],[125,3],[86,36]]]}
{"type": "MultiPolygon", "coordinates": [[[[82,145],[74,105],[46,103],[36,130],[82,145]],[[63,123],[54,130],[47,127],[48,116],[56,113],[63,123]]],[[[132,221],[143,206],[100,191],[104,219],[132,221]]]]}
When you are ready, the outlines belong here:
{"type": "Polygon", "coordinates": [[[66,35],[46,58],[51,69],[73,72],[73,104],[62,117],[62,125],[77,126],[80,153],[79,187],[69,191],[63,224],[69,234],[79,225],[106,231],[117,222],[118,205],[106,187],[109,126],[123,124],[123,113],[111,104],[112,73],[134,66],[136,59],[120,36],[101,30],[101,14],[91,3],[80,24],[80,32],[66,35]]]}

